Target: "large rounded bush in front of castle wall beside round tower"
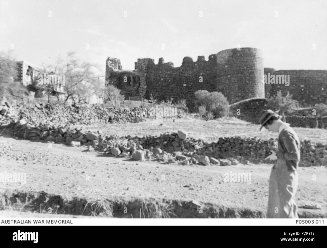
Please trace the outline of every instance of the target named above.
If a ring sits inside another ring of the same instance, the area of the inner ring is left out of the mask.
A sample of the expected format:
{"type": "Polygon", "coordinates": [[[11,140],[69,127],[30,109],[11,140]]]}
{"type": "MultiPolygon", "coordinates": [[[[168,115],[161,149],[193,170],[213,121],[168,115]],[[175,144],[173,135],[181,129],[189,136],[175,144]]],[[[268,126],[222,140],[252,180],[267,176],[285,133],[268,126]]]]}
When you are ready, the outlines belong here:
{"type": "Polygon", "coordinates": [[[220,92],[208,92],[198,90],[195,92],[195,104],[204,105],[207,112],[212,112],[215,118],[227,116],[229,114],[229,102],[220,92]]]}

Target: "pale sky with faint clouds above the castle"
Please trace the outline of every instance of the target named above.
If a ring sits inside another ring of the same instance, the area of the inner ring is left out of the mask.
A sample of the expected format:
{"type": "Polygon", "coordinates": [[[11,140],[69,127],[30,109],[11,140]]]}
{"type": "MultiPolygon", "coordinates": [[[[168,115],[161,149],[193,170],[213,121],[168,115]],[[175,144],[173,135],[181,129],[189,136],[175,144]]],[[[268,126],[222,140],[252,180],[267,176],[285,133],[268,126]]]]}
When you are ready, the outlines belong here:
{"type": "Polygon", "coordinates": [[[0,0],[0,50],[37,65],[76,51],[104,76],[108,57],[177,67],[238,44],[261,49],[264,67],[326,70],[327,1],[0,0]]]}

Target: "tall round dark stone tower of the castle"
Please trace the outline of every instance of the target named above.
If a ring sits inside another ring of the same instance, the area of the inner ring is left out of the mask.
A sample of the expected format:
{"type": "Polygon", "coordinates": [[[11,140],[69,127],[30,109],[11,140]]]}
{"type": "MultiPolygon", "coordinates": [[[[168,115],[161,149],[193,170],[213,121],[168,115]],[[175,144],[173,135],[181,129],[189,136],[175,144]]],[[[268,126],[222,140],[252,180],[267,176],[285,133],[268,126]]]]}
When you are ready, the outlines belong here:
{"type": "Polygon", "coordinates": [[[248,98],[264,98],[263,54],[256,48],[244,47],[217,53],[217,91],[230,103],[248,98]]]}

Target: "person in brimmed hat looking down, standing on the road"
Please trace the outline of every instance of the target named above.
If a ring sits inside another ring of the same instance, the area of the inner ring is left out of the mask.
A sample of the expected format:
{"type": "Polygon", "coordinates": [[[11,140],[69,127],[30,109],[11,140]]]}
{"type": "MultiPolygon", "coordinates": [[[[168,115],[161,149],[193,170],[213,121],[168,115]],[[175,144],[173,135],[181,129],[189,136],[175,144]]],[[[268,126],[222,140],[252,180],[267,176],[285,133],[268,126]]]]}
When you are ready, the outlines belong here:
{"type": "Polygon", "coordinates": [[[271,169],[267,218],[299,218],[295,193],[300,162],[300,141],[293,128],[281,120],[279,111],[267,110],[261,117],[260,130],[279,133],[277,162],[271,169]]]}

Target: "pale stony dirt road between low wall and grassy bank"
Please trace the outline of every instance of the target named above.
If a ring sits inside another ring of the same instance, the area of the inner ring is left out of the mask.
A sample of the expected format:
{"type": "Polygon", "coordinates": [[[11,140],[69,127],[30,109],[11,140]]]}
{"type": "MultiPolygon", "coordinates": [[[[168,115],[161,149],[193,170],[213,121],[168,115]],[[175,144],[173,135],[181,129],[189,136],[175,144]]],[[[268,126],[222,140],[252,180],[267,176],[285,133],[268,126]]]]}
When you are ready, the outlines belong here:
{"type": "MultiPolygon", "coordinates": [[[[26,184],[0,182],[2,192],[40,192],[88,201],[115,197],[171,199],[266,213],[270,165],[181,166],[135,162],[88,152],[85,147],[0,137],[0,173],[26,173],[26,184]],[[225,173],[249,173],[248,182],[225,182],[225,173]],[[251,174],[250,174],[251,173],[251,174]]],[[[299,168],[297,204],[327,210],[326,167],[299,168]],[[316,181],[313,181],[315,175],[316,181]]],[[[300,213],[303,209],[299,209],[300,213]]]]}

